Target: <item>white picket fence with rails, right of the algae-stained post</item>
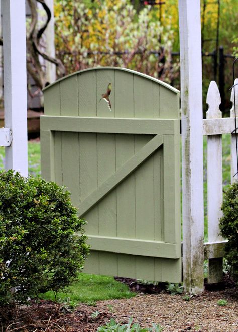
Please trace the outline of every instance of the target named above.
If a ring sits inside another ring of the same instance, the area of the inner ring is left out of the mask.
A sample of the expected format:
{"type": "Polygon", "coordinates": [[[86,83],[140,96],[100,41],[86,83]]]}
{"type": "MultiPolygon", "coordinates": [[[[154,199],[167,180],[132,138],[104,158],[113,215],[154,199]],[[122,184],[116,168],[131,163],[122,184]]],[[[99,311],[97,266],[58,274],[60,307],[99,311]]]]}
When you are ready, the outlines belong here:
{"type": "MultiPolygon", "coordinates": [[[[238,84],[235,79],[234,85],[238,84]]],[[[231,183],[238,179],[234,100],[238,114],[238,85],[231,90],[232,107],[229,118],[222,118],[219,109],[221,103],[220,93],[215,81],[211,81],[207,92],[206,103],[209,108],[206,119],[203,120],[203,136],[207,136],[207,219],[208,219],[208,242],[205,243],[205,258],[208,259],[208,282],[219,282],[222,279],[222,256],[224,241],[219,234],[219,219],[222,216],[220,210],[223,197],[222,179],[222,134],[231,134],[231,183]],[[235,97],[234,97],[235,91],[235,97]],[[235,98],[235,99],[234,99],[235,98]],[[233,134],[232,134],[233,132],[233,134]],[[235,175],[236,174],[236,175],[235,175]],[[235,176],[234,176],[235,175],[235,176]]],[[[236,114],[236,117],[237,117],[236,114]]],[[[238,124],[238,120],[237,120],[238,124]]],[[[238,133],[238,130],[237,130],[238,133]]]]}

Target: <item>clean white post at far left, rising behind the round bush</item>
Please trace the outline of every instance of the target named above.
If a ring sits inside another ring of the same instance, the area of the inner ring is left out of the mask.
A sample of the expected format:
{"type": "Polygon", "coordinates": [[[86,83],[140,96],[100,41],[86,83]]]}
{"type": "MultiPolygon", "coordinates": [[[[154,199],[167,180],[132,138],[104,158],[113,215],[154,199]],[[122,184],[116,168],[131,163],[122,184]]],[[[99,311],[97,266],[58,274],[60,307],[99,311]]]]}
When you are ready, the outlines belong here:
{"type": "Polygon", "coordinates": [[[2,0],[5,127],[12,131],[6,169],[28,176],[25,0],[2,0]]]}

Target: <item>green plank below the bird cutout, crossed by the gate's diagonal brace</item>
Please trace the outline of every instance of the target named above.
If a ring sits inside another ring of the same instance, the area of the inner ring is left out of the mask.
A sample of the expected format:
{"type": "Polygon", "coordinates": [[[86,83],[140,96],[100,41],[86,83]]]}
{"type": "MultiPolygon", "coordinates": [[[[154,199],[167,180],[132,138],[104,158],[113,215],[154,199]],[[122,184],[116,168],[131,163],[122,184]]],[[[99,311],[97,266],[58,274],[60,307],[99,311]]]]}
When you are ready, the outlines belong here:
{"type": "MultiPolygon", "coordinates": [[[[115,172],[115,135],[97,135],[98,186],[115,172]]],[[[116,236],[116,189],[98,203],[99,235],[116,236]]]]}

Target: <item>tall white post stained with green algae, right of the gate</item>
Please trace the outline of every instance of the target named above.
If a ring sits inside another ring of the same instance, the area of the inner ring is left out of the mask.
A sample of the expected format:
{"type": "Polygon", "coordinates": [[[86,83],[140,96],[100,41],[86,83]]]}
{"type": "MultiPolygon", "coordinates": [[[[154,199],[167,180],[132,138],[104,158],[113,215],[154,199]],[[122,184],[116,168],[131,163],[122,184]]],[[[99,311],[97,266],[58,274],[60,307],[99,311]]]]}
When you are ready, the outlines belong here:
{"type": "Polygon", "coordinates": [[[203,291],[203,131],[200,1],[179,0],[183,281],[186,292],[203,291]]]}

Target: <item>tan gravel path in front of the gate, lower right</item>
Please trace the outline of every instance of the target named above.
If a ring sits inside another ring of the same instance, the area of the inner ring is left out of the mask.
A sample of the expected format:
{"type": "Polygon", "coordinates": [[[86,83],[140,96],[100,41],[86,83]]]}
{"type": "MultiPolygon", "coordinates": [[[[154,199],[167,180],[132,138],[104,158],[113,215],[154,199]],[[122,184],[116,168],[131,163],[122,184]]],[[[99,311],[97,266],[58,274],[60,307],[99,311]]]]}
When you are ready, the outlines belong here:
{"type": "Polygon", "coordinates": [[[94,310],[112,311],[116,321],[127,322],[132,316],[143,327],[159,323],[164,331],[238,332],[238,290],[206,292],[183,300],[181,295],[160,293],[138,295],[131,299],[101,301],[94,310]],[[227,300],[219,306],[219,299],[227,300]],[[109,305],[109,306],[108,306],[109,305]]]}

